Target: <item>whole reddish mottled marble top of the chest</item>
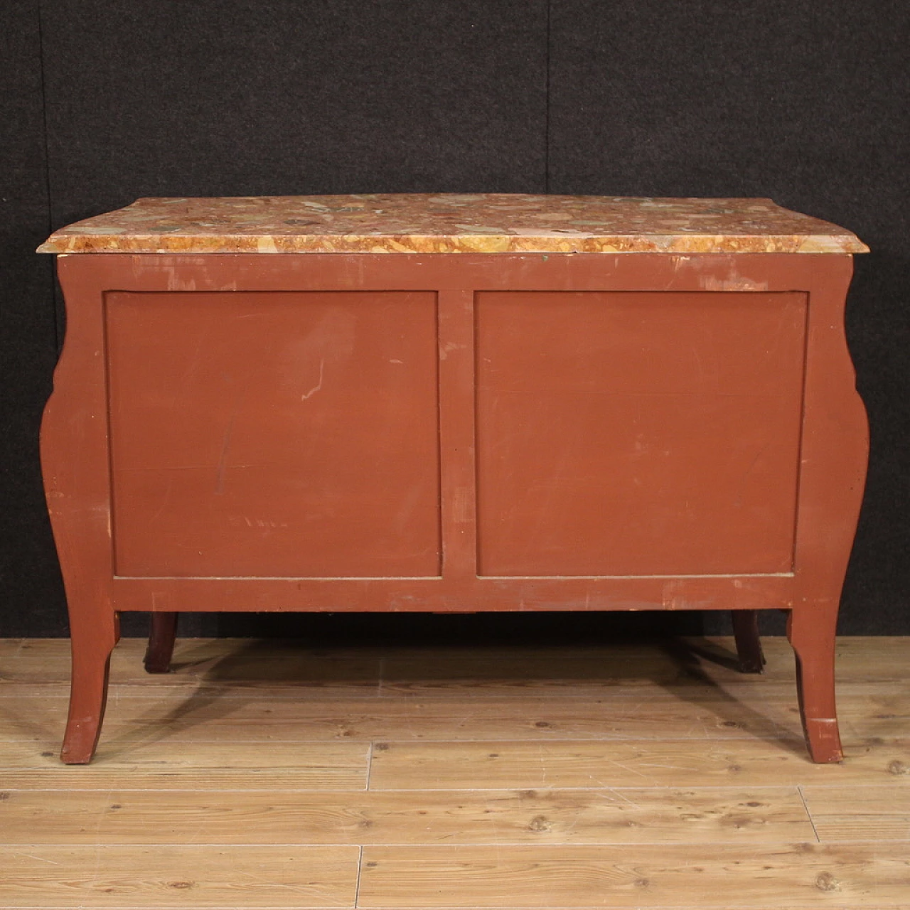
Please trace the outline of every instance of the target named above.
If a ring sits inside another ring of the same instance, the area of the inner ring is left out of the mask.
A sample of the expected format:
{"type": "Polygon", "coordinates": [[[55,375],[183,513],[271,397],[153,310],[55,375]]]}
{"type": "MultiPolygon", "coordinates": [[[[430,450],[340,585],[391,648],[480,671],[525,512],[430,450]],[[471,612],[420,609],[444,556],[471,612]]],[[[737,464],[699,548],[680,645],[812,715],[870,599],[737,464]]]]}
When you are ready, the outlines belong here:
{"type": "Polygon", "coordinates": [[[771,199],[360,194],[137,199],[40,253],[864,253],[771,199]]]}

